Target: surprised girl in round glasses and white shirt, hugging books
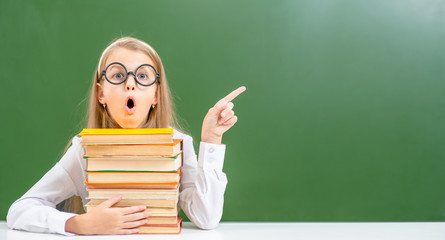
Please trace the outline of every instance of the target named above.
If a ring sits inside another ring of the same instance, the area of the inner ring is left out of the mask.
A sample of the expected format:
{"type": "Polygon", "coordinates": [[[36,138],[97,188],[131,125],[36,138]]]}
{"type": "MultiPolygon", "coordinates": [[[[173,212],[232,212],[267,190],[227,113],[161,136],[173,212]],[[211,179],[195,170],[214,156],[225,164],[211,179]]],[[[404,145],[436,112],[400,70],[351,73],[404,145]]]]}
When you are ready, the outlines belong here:
{"type": "MultiPolygon", "coordinates": [[[[174,138],[184,140],[179,205],[187,217],[202,229],[215,228],[222,216],[227,184],[222,172],[225,145],[222,135],[237,121],[233,112],[240,87],[212,107],[204,118],[199,157],[192,138],[174,130],[174,138]]],[[[93,79],[88,128],[168,128],[177,126],[167,78],[161,59],[141,40],[124,37],[111,43],[102,53],[93,79]]],[[[115,196],[94,210],[68,213],[56,205],[72,196],[85,204],[83,182],[86,161],[81,137],[56,165],[25,195],[15,201],[7,216],[10,228],[33,232],[70,234],[132,234],[147,222],[145,206],[112,208],[121,200],[115,196]],[[79,199],[79,198],[78,198],[79,199]]]]}

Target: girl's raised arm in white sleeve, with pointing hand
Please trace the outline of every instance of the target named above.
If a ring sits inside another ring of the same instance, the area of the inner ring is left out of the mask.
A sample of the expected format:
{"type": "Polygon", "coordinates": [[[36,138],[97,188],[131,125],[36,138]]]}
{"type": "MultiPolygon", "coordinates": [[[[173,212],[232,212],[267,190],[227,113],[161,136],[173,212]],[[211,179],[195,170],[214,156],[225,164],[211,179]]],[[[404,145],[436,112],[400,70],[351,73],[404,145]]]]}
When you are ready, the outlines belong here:
{"type": "Polygon", "coordinates": [[[222,217],[227,177],[222,172],[225,145],[221,140],[237,121],[231,101],[245,90],[236,89],[209,110],[202,126],[198,159],[192,139],[184,139],[179,203],[189,219],[203,229],[215,228],[222,217]]]}

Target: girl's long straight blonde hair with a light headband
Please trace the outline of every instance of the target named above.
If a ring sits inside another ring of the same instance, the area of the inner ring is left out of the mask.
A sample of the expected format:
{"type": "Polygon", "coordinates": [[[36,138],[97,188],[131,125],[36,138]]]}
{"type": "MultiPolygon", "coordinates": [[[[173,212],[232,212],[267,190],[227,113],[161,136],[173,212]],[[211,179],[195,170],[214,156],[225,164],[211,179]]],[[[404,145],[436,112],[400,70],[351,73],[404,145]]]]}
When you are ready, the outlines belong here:
{"type": "MultiPolygon", "coordinates": [[[[147,54],[147,56],[149,56],[153,61],[156,71],[160,74],[159,81],[156,82],[156,96],[158,98],[158,103],[155,108],[151,108],[148,112],[147,121],[142,125],[142,128],[173,127],[176,129],[180,129],[174,111],[173,99],[170,88],[168,87],[167,78],[165,76],[161,58],[150,45],[134,37],[118,38],[112,41],[110,45],[103,51],[95,70],[93,82],[91,84],[88,107],[89,111],[86,115],[86,127],[120,128],[119,124],[117,124],[108,114],[107,110],[102,106],[97,97],[97,83],[102,83],[104,81],[104,77],[101,78],[101,72],[103,69],[105,69],[107,58],[114,50],[118,48],[126,48],[128,50],[140,51],[147,54]]],[[[69,144],[71,144],[71,141],[69,144]]],[[[68,149],[69,144],[66,149],[68,149]]],[[[67,212],[84,213],[83,204],[79,196],[73,196],[67,199],[66,202],[63,204],[62,209],[67,212]]]]}

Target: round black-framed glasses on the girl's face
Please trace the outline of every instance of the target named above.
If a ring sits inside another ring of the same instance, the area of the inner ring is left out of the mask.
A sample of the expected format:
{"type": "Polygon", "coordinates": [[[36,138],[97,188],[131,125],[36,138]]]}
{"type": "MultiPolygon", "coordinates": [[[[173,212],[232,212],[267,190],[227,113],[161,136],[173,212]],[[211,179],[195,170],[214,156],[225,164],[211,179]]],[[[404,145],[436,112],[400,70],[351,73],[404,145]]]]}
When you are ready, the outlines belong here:
{"type": "Polygon", "coordinates": [[[134,76],[137,83],[145,87],[153,85],[161,76],[150,64],[142,64],[134,72],[128,72],[124,64],[113,62],[102,71],[97,81],[99,82],[102,76],[105,76],[109,83],[118,85],[125,82],[130,74],[134,76]]]}

